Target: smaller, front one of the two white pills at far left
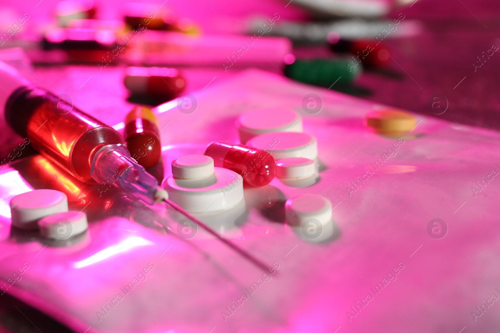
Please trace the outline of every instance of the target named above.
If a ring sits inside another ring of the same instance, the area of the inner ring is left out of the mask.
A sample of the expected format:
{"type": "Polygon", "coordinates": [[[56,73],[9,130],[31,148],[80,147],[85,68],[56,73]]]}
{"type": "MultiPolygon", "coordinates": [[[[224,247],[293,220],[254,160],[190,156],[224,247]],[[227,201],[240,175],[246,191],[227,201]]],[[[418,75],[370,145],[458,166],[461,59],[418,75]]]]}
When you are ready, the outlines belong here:
{"type": "Polygon", "coordinates": [[[87,215],[78,211],[56,213],[40,219],[38,227],[41,236],[63,240],[87,230],[87,215]]]}

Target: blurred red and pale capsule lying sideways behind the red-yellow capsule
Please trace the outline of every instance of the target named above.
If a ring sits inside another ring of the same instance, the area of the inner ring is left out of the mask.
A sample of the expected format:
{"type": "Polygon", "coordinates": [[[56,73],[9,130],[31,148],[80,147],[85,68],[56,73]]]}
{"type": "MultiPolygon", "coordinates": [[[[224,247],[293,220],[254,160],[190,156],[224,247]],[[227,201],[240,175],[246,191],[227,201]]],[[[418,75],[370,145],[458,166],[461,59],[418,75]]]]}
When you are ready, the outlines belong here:
{"type": "Polygon", "coordinates": [[[132,95],[164,101],[180,93],[185,86],[178,70],[167,67],[127,67],[123,83],[132,95]]]}

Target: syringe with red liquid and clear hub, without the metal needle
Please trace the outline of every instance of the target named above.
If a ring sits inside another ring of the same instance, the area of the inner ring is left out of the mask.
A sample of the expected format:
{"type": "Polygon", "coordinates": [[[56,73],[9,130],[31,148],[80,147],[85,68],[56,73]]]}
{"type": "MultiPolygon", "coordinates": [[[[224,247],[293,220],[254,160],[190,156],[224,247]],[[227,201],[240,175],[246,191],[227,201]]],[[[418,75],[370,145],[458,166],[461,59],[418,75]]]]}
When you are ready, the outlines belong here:
{"type": "Polygon", "coordinates": [[[0,121],[86,183],[116,186],[148,204],[157,180],[130,157],[121,135],[0,61],[0,121]]]}

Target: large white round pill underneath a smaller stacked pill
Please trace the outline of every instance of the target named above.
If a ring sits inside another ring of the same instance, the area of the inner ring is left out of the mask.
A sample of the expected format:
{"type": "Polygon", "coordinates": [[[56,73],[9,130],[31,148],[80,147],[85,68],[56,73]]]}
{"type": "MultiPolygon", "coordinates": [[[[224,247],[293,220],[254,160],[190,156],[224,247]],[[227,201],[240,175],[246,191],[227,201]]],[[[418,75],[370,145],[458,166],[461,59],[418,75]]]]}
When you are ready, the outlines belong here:
{"type": "Polygon", "coordinates": [[[224,168],[215,167],[214,171],[214,179],[208,183],[170,176],[163,182],[163,187],[171,201],[191,213],[220,211],[239,204],[243,200],[241,176],[224,168]],[[194,186],[196,184],[198,186],[194,186]]]}

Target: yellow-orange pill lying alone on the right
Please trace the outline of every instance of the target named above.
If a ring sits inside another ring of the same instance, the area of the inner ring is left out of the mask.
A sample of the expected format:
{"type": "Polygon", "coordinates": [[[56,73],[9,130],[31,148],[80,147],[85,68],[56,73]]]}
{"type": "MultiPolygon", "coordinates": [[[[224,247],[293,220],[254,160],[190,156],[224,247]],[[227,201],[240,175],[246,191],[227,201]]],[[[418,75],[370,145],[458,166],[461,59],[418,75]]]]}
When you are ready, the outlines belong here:
{"type": "Polygon", "coordinates": [[[413,129],[416,120],[408,112],[398,109],[384,109],[367,112],[366,124],[382,133],[401,133],[413,129]]]}

